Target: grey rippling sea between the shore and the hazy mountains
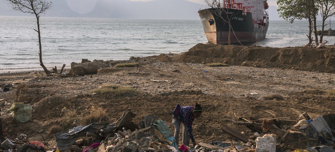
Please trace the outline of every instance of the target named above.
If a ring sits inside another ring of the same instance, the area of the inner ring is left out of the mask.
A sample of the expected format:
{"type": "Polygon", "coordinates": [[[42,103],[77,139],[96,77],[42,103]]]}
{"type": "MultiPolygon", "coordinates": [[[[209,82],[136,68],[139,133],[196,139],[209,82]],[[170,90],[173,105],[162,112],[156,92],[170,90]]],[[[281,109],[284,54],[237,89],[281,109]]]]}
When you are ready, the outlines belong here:
{"type": "MultiPolygon", "coordinates": [[[[320,21],[319,21],[320,22],[320,21]]],[[[199,20],[40,18],[42,57],[51,68],[88,60],[126,60],[130,57],[186,52],[208,43],[199,20]]],[[[329,25],[326,29],[328,30],[329,25]]],[[[0,72],[40,70],[35,17],[0,16],[0,72]]],[[[260,46],[292,47],[308,42],[308,22],[270,20],[260,46]]],[[[325,36],[329,45],[335,37],[325,36]]],[[[244,45],[253,45],[244,44],[244,45]]]]}

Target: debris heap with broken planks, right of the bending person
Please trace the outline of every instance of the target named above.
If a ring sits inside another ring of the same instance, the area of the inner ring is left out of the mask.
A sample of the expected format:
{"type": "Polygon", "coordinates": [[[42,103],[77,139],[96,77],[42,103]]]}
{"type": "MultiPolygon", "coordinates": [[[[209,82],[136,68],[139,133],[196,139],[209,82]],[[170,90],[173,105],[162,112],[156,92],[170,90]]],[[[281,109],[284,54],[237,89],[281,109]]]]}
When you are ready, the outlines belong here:
{"type": "Polygon", "coordinates": [[[246,136],[222,122],[222,131],[241,141],[233,141],[230,150],[255,152],[284,152],[292,150],[294,150],[294,152],[322,152],[321,149],[323,148],[325,152],[335,152],[331,149],[331,147],[335,147],[335,114],[318,116],[311,119],[305,112],[300,117],[303,118],[302,120],[289,120],[287,118],[257,119],[255,117],[250,117],[248,120],[238,113],[234,114],[242,121],[231,119],[224,119],[223,121],[229,121],[237,125],[245,125],[251,131],[255,132],[255,136],[246,136]],[[304,149],[313,146],[318,147],[308,149],[308,151],[304,149]]]}

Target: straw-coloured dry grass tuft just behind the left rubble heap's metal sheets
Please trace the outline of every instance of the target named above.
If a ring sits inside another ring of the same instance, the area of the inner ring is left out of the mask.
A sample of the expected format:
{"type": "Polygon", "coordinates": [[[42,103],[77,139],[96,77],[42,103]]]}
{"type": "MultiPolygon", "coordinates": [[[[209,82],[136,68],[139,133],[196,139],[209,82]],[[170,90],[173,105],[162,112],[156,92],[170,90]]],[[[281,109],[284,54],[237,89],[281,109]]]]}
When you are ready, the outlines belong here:
{"type": "Polygon", "coordinates": [[[94,122],[108,122],[109,116],[106,109],[102,107],[91,107],[89,112],[79,118],[80,125],[89,125],[94,122]]]}

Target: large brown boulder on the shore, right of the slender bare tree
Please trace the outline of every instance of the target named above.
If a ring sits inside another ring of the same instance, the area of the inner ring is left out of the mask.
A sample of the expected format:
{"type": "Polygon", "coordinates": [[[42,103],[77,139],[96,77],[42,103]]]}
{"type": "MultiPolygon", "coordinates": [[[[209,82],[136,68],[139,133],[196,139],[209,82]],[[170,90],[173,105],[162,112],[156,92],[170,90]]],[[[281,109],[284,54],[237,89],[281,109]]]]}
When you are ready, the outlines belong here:
{"type": "Polygon", "coordinates": [[[96,74],[99,68],[110,67],[109,64],[102,62],[84,62],[84,63],[71,63],[70,74],[84,76],[88,74],[96,74]]]}

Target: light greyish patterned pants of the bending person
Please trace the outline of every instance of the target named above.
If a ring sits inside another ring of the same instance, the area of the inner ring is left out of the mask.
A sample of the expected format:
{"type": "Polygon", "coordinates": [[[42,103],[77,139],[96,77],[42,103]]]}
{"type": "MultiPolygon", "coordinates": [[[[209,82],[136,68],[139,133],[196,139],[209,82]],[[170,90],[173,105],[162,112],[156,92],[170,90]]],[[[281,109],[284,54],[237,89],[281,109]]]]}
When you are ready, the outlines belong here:
{"type": "MultiPolygon", "coordinates": [[[[179,131],[180,131],[180,122],[176,117],[173,117],[172,124],[175,126],[175,139],[177,145],[179,145],[179,131]]],[[[186,146],[190,145],[190,135],[188,134],[186,124],[183,123],[183,144],[186,146]]]]}

